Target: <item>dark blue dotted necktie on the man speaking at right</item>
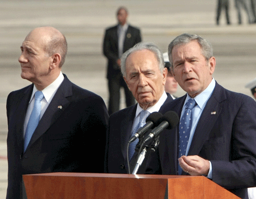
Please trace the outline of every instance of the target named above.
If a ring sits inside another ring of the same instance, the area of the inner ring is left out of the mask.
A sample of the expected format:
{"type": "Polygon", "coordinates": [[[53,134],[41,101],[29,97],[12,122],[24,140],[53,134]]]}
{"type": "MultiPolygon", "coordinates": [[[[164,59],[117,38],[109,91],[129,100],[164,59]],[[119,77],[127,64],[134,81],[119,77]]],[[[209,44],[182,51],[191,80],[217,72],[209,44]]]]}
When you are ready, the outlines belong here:
{"type": "MultiPolygon", "coordinates": [[[[179,146],[178,146],[178,158],[186,154],[187,143],[192,126],[192,109],[196,105],[194,99],[189,99],[186,103],[186,108],[183,116],[180,118],[179,125],[179,146]]],[[[178,163],[178,173],[182,173],[182,168],[178,163]]]]}

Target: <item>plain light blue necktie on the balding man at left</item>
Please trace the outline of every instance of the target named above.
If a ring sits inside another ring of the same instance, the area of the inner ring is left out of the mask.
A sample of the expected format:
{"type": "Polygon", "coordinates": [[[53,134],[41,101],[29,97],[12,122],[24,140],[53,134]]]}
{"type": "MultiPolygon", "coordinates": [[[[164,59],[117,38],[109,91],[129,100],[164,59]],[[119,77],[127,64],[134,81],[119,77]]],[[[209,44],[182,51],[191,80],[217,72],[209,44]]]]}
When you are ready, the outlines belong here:
{"type": "Polygon", "coordinates": [[[24,151],[26,150],[30,139],[39,123],[40,112],[41,112],[41,100],[44,98],[44,94],[41,91],[35,92],[35,102],[32,113],[29,118],[25,138],[24,138],[24,151]]]}

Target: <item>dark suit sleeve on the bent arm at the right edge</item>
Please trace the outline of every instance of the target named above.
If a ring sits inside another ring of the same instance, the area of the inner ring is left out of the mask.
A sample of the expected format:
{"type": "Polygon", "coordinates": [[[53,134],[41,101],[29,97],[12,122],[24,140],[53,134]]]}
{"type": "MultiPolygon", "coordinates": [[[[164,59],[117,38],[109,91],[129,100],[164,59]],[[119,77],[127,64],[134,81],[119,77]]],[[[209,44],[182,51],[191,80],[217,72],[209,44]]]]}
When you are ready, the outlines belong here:
{"type": "MultiPolygon", "coordinates": [[[[256,103],[249,97],[241,101],[233,107],[238,112],[231,122],[229,161],[210,160],[212,181],[227,189],[256,186],[256,103]]],[[[228,122],[223,122],[223,130],[228,122]]]]}

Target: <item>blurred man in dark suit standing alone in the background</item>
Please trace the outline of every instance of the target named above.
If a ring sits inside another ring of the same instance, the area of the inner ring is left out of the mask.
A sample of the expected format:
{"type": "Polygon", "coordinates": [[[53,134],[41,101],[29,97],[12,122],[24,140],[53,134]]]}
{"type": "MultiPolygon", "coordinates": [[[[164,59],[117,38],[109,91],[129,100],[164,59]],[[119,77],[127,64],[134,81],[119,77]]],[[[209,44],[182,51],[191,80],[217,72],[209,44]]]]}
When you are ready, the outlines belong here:
{"type": "Polygon", "coordinates": [[[135,104],[133,94],[127,88],[120,71],[122,54],[141,41],[140,30],[127,24],[127,9],[120,7],[117,10],[118,25],[105,31],[103,54],[108,58],[106,78],[109,85],[109,115],[119,110],[120,88],[125,93],[126,106],[135,104]]]}

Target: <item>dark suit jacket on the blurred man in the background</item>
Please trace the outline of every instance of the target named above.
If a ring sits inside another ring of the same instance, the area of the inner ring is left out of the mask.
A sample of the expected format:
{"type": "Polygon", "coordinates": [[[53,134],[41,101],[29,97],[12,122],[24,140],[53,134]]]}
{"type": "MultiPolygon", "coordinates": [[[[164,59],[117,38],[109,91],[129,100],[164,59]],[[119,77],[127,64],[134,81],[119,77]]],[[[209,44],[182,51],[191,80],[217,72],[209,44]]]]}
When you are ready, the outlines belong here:
{"type": "MultiPolygon", "coordinates": [[[[116,63],[117,59],[119,59],[117,27],[114,26],[106,29],[103,41],[103,54],[108,58],[108,69],[106,73],[108,79],[118,74],[120,75],[120,68],[116,63]]],[[[123,52],[132,48],[136,43],[141,42],[140,30],[138,28],[129,25],[125,35],[123,52]]]]}

